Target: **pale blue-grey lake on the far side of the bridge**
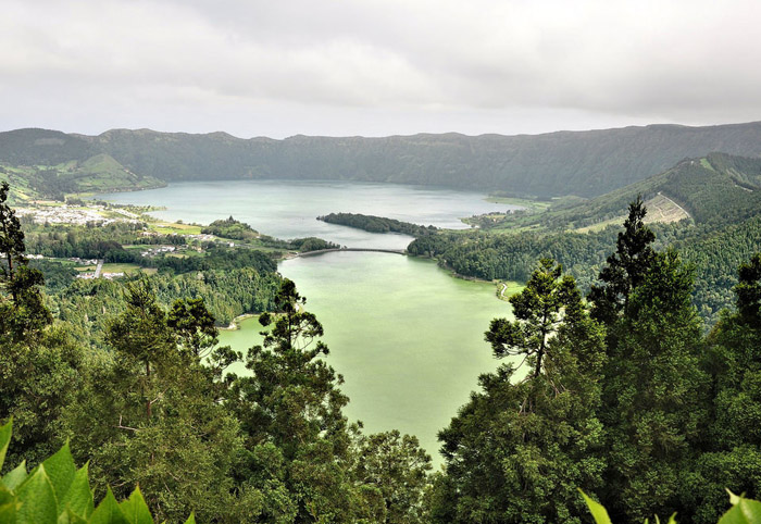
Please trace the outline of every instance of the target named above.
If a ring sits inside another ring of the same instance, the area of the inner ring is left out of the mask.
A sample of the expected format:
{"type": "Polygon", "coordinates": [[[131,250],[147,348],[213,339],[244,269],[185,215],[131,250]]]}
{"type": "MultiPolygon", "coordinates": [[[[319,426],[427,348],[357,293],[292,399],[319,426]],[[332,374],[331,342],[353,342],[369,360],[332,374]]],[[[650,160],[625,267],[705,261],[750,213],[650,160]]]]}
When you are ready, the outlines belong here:
{"type": "Polygon", "coordinates": [[[120,203],[161,205],[152,215],[209,224],[233,215],[277,238],[315,236],[351,248],[403,249],[406,235],[378,235],[317,221],[328,213],[363,213],[422,225],[466,228],[460,219],[515,209],[481,192],[355,182],[216,180],[171,184],[147,191],[101,195],[120,203]]]}

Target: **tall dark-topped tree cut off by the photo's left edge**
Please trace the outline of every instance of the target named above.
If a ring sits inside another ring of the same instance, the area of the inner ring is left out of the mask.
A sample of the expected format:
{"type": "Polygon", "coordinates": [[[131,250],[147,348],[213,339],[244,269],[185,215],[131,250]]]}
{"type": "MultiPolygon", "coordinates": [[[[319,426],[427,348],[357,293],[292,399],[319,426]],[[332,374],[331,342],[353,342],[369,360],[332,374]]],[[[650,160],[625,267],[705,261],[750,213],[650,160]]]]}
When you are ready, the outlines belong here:
{"type": "Polygon", "coordinates": [[[78,387],[83,354],[50,327],[42,274],[28,266],[9,190],[0,184],[0,422],[15,420],[9,463],[34,464],[61,444],[61,412],[78,387]]]}

